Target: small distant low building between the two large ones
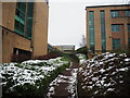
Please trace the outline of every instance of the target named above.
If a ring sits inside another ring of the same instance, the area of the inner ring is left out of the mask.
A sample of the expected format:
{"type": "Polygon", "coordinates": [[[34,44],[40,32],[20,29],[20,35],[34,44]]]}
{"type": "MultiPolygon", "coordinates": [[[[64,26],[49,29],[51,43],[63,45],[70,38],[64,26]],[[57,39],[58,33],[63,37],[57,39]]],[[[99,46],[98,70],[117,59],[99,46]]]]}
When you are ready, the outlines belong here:
{"type": "Polygon", "coordinates": [[[73,53],[75,51],[74,45],[63,45],[63,46],[54,46],[54,47],[65,53],[73,53]]]}

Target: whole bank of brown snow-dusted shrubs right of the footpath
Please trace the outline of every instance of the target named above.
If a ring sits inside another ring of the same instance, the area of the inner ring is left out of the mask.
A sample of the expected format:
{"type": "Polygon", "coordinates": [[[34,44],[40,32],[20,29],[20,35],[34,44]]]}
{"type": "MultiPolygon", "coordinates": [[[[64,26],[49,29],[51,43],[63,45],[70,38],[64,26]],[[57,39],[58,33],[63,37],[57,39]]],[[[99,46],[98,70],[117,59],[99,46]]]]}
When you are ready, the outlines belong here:
{"type": "Polygon", "coordinates": [[[82,96],[130,96],[130,58],[102,53],[79,68],[82,96]]]}

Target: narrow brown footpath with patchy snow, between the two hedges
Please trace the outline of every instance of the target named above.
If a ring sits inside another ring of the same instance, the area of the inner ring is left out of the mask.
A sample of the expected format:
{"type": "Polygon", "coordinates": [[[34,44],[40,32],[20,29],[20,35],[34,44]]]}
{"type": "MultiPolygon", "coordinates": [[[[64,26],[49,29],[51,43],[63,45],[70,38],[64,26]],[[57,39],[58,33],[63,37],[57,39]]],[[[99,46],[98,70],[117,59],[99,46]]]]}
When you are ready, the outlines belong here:
{"type": "Polygon", "coordinates": [[[77,98],[77,72],[79,64],[75,61],[53,82],[50,83],[47,97],[69,97],[77,98]]]}

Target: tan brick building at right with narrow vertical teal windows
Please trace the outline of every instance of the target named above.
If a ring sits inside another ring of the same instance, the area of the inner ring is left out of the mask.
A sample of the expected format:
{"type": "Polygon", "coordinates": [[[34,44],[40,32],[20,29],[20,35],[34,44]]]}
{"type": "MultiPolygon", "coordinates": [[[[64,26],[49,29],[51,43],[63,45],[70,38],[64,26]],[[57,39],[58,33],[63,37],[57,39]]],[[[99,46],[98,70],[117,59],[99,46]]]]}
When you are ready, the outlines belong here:
{"type": "Polygon", "coordinates": [[[87,46],[93,52],[130,44],[130,4],[87,7],[87,46]]]}

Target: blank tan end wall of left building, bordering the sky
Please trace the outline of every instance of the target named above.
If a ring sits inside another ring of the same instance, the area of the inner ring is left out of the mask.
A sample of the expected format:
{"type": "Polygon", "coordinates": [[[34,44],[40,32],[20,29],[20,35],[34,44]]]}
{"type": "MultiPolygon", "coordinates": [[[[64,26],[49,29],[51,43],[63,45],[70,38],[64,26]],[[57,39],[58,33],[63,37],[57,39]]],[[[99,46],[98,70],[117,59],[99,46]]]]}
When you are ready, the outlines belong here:
{"type": "Polygon", "coordinates": [[[49,7],[46,2],[36,2],[34,9],[32,54],[39,57],[48,53],[49,7]]]}

